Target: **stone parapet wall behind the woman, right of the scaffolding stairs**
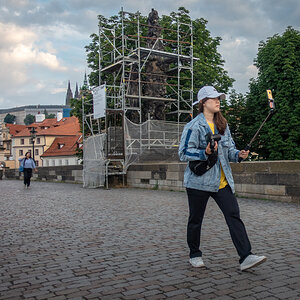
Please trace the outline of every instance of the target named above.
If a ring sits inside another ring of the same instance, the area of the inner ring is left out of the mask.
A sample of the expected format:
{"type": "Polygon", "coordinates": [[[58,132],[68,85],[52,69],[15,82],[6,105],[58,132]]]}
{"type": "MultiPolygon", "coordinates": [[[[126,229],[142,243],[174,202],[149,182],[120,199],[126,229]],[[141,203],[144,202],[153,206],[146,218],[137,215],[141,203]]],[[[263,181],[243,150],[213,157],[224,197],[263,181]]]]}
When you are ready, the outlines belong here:
{"type": "MultiPolygon", "coordinates": [[[[186,163],[131,165],[127,184],[132,187],[185,191],[186,163]]],[[[239,197],[300,203],[300,161],[242,162],[231,164],[239,197]]]]}

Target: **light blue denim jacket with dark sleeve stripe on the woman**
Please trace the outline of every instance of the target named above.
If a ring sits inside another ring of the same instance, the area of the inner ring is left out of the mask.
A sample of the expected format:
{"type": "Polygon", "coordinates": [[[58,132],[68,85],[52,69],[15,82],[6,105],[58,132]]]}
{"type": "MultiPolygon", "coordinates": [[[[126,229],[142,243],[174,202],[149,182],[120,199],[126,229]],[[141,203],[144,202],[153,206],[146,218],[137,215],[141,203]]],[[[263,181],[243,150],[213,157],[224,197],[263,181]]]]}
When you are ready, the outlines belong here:
{"type": "MultiPolygon", "coordinates": [[[[181,135],[178,155],[181,161],[206,160],[205,149],[207,142],[205,136],[211,132],[203,113],[200,113],[192,121],[187,123],[181,135]]],[[[215,127],[215,134],[218,133],[215,127]]],[[[234,182],[229,162],[238,161],[239,150],[235,148],[229,127],[226,127],[224,135],[218,143],[218,161],[202,176],[195,175],[187,165],[184,172],[184,186],[187,188],[217,192],[219,190],[221,167],[225,173],[227,182],[234,193],[234,182]]]]}

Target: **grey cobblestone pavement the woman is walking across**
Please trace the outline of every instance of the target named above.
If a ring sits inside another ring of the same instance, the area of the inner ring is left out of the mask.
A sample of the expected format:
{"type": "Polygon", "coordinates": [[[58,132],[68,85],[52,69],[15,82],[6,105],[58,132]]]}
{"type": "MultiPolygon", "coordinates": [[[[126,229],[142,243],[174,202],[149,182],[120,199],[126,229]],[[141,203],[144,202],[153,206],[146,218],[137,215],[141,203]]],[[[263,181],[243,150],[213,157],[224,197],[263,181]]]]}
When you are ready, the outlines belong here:
{"type": "Polygon", "coordinates": [[[239,271],[209,201],[206,269],[188,262],[186,194],[0,181],[0,299],[300,299],[300,206],[239,199],[253,252],[239,271]]]}

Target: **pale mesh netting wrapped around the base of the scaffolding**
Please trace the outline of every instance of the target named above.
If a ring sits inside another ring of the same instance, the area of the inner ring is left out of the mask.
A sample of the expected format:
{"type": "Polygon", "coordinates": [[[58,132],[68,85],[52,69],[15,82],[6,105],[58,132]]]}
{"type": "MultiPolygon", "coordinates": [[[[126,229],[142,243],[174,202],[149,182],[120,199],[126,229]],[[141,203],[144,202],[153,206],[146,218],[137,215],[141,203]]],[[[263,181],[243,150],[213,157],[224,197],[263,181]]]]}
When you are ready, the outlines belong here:
{"type": "MultiPolygon", "coordinates": [[[[178,145],[181,132],[185,124],[149,120],[142,124],[135,124],[124,118],[125,159],[124,171],[135,162],[178,161],[178,145]]],[[[120,155],[123,144],[121,138],[122,127],[108,128],[108,135],[114,134],[109,149],[114,149],[120,155]]],[[[84,187],[100,187],[105,184],[106,134],[93,135],[84,141],[83,148],[83,182],[84,187]]],[[[112,153],[112,152],[111,152],[112,153]]]]}

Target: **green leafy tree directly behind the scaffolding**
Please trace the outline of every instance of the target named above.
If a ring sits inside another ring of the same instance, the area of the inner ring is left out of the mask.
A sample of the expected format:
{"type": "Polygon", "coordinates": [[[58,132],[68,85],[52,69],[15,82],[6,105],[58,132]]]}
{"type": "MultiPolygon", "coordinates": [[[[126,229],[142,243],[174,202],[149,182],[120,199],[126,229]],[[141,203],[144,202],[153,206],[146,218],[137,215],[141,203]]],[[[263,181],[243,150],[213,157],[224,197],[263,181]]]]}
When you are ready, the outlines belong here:
{"type": "MultiPolygon", "coordinates": [[[[105,18],[102,15],[98,16],[99,22],[106,28],[112,28],[113,26],[116,27],[116,36],[120,36],[121,34],[121,25],[120,25],[120,14],[117,16],[112,16],[110,18],[105,18]]],[[[199,61],[195,62],[194,64],[194,90],[195,95],[200,87],[203,85],[214,85],[218,90],[227,92],[228,89],[232,86],[234,79],[228,76],[226,70],[224,70],[224,63],[225,61],[222,59],[221,55],[218,53],[218,46],[220,45],[221,38],[216,37],[213,38],[206,28],[207,21],[203,18],[191,20],[189,16],[189,11],[184,7],[179,7],[177,12],[171,12],[169,16],[163,15],[159,22],[161,27],[170,29],[169,31],[163,31],[163,38],[166,40],[177,40],[177,20],[181,23],[189,24],[192,22],[193,25],[193,51],[194,56],[199,58],[199,61]]],[[[136,35],[137,29],[134,22],[136,21],[135,16],[129,16],[128,22],[124,23],[124,32],[130,35],[136,35]]],[[[147,24],[147,17],[140,16],[140,23],[147,24]]],[[[187,30],[188,27],[182,28],[182,31],[187,30]]],[[[140,35],[146,36],[148,31],[147,26],[141,26],[140,35]]],[[[87,45],[86,52],[87,52],[87,62],[88,66],[93,70],[89,75],[89,81],[91,86],[98,86],[99,82],[99,36],[93,33],[91,36],[91,43],[87,45]]],[[[184,39],[184,36],[181,37],[184,39]]],[[[188,38],[185,37],[187,40],[188,38]]],[[[145,46],[143,43],[146,43],[145,40],[141,40],[142,45],[145,46]]],[[[121,40],[116,40],[117,44],[116,47],[121,47],[121,40]]],[[[128,42],[130,43],[130,41],[128,42]]],[[[112,45],[107,42],[104,38],[101,39],[101,44],[105,45],[105,50],[107,49],[107,53],[112,50],[112,45]]],[[[127,45],[128,47],[128,45],[127,45]]],[[[132,44],[134,48],[135,45],[132,44]]],[[[165,42],[164,48],[166,51],[177,51],[177,48],[174,48],[170,43],[165,42]]],[[[188,47],[185,50],[188,51],[188,47]]],[[[105,54],[105,53],[103,53],[105,54]]],[[[185,54],[185,53],[183,53],[185,54]]],[[[105,57],[105,55],[104,55],[105,57]]],[[[110,56],[107,55],[110,58],[110,56]]],[[[105,66],[105,61],[102,62],[103,66],[105,66]]],[[[108,62],[108,64],[110,64],[108,62]]],[[[182,71],[182,77],[184,77],[184,73],[188,73],[189,71],[182,71]]],[[[109,81],[110,74],[103,74],[103,81],[109,81]]],[[[176,80],[175,80],[176,81],[176,80]]],[[[172,82],[170,82],[172,83],[172,82]]]]}

